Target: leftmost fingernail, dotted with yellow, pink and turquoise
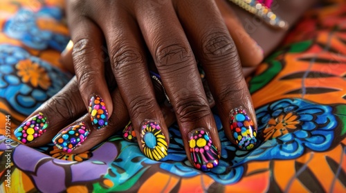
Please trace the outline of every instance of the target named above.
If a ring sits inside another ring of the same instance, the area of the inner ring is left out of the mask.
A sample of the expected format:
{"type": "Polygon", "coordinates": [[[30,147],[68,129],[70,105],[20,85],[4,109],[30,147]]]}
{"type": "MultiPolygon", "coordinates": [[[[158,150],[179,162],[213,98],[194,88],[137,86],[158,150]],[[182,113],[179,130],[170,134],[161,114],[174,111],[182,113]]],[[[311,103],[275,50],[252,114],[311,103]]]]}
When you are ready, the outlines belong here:
{"type": "Polygon", "coordinates": [[[35,116],[22,123],[19,128],[15,130],[15,136],[19,141],[21,141],[21,143],[30,143],[37,137],[41,136],[41,134],[46,132],[47,127],[47,117],[45,117],[42,112],[39,112],[35,116]]]}

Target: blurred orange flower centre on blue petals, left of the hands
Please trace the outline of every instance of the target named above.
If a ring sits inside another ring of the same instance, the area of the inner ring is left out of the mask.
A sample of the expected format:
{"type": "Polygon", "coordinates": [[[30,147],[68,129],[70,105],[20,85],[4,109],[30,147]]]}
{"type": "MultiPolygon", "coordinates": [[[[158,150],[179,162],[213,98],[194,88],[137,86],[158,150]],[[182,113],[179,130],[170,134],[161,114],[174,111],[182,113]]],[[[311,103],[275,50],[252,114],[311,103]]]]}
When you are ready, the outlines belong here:
{"type": "Polygon", "coordinates": [[[45,90],[51,85],[51,79],[49,79],[46,70],[30,59],[19,61],[16,68],[18,70],[17,75],[21,77],[21,81],[24,83],[30,82],[33,87],[40,86],[45,90]]]}

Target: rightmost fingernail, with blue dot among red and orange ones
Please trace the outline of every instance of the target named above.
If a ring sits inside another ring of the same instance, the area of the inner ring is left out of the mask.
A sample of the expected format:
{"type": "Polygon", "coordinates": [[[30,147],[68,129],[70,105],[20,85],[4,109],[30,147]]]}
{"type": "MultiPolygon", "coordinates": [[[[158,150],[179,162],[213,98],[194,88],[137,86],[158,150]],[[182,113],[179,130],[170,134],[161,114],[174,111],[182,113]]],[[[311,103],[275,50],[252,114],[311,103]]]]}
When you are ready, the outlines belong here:
{"type": "Polygon", "coordinates": [[[239,107],[230,111],[230,131],[240,149],[251,150],[255,147],[257,130],[244,108],[239,107]]]}

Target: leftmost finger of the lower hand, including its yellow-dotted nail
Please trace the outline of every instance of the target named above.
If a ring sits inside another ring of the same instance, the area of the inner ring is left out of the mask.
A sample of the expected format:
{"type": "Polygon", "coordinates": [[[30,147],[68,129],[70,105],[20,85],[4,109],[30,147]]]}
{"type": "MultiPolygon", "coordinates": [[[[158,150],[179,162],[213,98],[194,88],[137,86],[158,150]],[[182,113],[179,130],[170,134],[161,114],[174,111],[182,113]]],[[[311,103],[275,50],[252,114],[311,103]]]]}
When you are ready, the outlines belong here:
{"type": "Polygon", "coordinates": [[[80,100],[78,81],[75,77],[51,99],[28,116],[14,134],[18,141],[29,146],[44,145],[51,141],[58,130],[69,125],[86,112],[80,100]]]}

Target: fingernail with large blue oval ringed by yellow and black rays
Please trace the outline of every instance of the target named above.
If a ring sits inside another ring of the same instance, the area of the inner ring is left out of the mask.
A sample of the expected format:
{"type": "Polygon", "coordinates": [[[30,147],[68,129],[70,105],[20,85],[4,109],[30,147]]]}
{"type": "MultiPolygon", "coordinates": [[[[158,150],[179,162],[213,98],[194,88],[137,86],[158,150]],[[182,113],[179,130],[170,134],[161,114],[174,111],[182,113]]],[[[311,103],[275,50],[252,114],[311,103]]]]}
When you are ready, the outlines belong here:
{"type": "Polygon", "coordinates": [[[147,120],[140,126],[140,139],[145,156],[152,160],[160,160],[167,156],[166,137],[157,121],[147,120]]]}

